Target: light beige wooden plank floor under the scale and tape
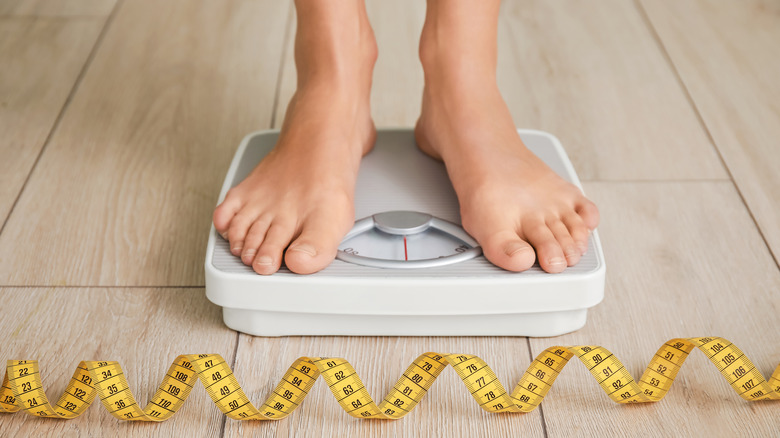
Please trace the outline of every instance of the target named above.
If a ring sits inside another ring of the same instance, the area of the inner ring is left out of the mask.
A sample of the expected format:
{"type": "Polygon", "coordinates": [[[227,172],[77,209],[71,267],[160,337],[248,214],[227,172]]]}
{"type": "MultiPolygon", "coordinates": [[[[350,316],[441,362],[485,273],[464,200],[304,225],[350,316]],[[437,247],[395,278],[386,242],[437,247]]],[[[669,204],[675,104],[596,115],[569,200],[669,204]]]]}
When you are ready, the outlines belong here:
{"type": "MultiPolygon", "coordinates": [[[[373,111],[411,126],[424,2],[369,2],[373,111]]],[[[499,80],[520,127],[567,148],[599,205],[606,298],[552,339],[256,338],[222,324],[203,260],[246,133],[295,84],[278,0],[0,0],[0,357],[38,359],[51,398],[80,360],[117,360],[143,403],[181,353],[220,353],[260,403],[301,355],[340,356],[381,399],[425,351],[472,353],[512,387],[552,345],[596,344],[639,376],[666,340],[723,336],[780,363],[780,2],[506,0],[499,80]]],[[[226,420],[193,391],[162,424],[101,406],[0,416],[4,435],[767,436],[780,404],[739,398],[701,354],[663,401],[619,406],[585,367],[541,408],[482,412],[445,371],[400,421],[341,411],[324,384],[280,422],[226,420]]]]}

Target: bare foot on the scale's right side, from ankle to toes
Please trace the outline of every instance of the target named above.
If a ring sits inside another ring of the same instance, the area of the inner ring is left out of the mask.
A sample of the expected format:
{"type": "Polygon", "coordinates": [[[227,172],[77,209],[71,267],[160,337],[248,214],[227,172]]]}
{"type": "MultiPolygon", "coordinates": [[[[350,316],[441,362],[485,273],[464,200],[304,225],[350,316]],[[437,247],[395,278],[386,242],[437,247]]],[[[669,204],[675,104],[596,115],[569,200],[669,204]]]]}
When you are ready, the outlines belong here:
{"type": "Polygon", "coordinates": [[[561,272],[585,254],[598,210],[523,145],[498,90],[485,88],[426,89],[417,143],[444,160],[463,227],[488,260],[523,271],[538,259],[561,272]]]}

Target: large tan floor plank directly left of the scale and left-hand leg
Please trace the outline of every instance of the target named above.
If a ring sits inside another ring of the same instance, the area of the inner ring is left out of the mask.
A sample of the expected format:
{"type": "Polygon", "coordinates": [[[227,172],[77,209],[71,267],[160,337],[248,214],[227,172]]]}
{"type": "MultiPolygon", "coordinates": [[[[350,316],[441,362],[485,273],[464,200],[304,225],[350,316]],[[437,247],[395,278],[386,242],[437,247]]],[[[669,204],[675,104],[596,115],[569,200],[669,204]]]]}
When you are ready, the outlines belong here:
{"type": "Polygon", "coordinates": [[[232,154],[270,123],[287,6],[123,3],[0,235],[0,284],[203,284],[232,154]]]}

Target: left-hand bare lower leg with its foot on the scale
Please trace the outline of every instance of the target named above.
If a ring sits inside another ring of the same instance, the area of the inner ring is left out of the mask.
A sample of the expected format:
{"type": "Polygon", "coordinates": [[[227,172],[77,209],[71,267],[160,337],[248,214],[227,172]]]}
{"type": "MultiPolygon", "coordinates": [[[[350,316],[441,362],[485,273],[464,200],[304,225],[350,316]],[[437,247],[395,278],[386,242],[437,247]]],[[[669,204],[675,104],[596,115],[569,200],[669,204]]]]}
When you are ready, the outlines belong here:
{"type": "Polygon", "coordinates": [[[214,211],[231,252],[259,274],[336,256],[354,220],[360,158],[376,132],[369,92],[376,42],[363,0],[297,0],[297,90],[271,153],[214,211]]]}

